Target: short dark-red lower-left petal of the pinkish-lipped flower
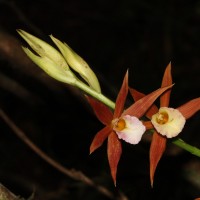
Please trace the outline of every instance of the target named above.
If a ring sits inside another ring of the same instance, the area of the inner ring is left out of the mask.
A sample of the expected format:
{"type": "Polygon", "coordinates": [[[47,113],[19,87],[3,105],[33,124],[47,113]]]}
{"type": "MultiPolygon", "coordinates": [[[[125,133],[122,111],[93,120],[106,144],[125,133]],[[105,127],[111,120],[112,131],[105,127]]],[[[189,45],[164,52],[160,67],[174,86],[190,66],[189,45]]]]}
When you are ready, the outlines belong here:
{"type": "Polygon", "coordinates": [[[94,137],[92,144],[90,145],[90,154],[94,152],[96,149],[98,149],[105,139],[108,137],[108,135],[111,133],[112,129],[110,126],[105,126],[103,129],[101,129],[94,137]]]}

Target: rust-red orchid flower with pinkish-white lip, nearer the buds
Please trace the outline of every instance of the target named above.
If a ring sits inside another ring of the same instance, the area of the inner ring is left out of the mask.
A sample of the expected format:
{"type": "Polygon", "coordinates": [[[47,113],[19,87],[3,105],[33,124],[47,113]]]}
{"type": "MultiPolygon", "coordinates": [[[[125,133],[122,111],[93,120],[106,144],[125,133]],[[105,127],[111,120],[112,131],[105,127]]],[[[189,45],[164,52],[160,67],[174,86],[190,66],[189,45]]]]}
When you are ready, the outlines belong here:
{"type": "Polygon", "coordinates": [[[98,100],[87,97],[91,104],[97,118],[105,125],[94,137],[91,146],[90,154],[99,148],[103,142],[108,138],[107,155],[111,176],[116,186],[117,166],[122,153],[122,146],[120,139],[130,143],[138,144],[144,134],[146,127],[139,120],[140,117],[147,112],[153,102],[165,92],[167,86],[160,88],[149,95],[141,98],[127,108],[124,112],[124,104],[128,94],[128,72],[126,73],[123,84],[119,91],[116,100],[114,113],[103,103],[98,100]]]}

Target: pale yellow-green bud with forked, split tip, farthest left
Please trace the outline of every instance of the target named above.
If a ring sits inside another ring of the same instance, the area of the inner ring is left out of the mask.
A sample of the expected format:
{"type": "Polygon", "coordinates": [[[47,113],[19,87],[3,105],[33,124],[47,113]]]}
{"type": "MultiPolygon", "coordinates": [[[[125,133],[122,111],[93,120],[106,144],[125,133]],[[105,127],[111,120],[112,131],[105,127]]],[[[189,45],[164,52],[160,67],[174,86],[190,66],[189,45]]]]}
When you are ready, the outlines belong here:
{"type": "Polygon", "coordinates": [[[17,31],[38,55],[28,48],[23,48],[24,52],[49,76],[68,84],[73,84],[77,80],[66,60],[55,48],[23,30],[17,31]]]}

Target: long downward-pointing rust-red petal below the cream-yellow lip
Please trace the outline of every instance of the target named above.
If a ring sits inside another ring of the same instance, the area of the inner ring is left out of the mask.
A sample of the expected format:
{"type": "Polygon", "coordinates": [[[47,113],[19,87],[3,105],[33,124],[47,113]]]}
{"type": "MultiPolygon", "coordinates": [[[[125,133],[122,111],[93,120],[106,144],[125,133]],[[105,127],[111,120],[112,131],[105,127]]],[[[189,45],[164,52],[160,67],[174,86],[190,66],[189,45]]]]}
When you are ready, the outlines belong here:
{"type": "Polygon", "coordinates": [[[153,134],[151,147],[150,147],[150,181],[151,186],[153,187],[154,174],[160,161],[165,148],[166,148],[167,139],[157,133],[156,131],[153,134]]]}

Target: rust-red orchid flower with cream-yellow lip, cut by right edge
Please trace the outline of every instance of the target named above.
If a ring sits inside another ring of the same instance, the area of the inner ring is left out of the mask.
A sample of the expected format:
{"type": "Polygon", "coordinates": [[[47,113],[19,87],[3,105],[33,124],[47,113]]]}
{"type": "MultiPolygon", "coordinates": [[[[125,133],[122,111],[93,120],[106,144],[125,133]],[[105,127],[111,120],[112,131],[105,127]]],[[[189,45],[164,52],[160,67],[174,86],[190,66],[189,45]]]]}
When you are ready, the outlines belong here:
{"type": "MultiPolygon", "coordinates": [[[[172,84],[171,63],[168,64],[161,87],[172,84]]],[[[130,89],[135,101],[144,98],[144,94],[130,89]]],[[[176,137],[183,129],[188,118],[200,110],[200,97],[193,99],[177,109],[169,107],[171,88],[160,96],[160,108],[155,105],[146,113],[151,121],[144,122],[147,129],[154,128],[150,147],[150,181],[153,186],[154,174],[159,160],[161,159],[165,149],[167,138],[176,137]]]]}

